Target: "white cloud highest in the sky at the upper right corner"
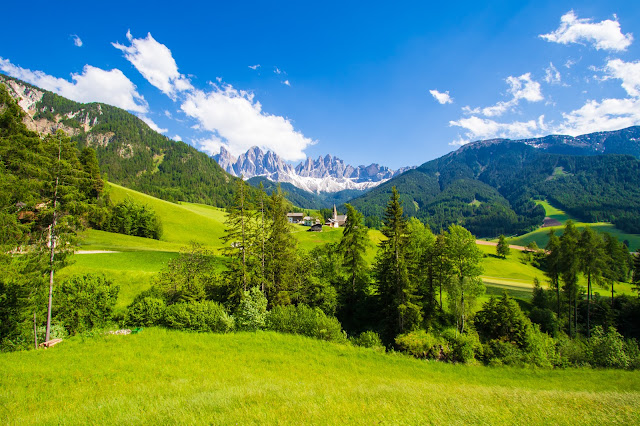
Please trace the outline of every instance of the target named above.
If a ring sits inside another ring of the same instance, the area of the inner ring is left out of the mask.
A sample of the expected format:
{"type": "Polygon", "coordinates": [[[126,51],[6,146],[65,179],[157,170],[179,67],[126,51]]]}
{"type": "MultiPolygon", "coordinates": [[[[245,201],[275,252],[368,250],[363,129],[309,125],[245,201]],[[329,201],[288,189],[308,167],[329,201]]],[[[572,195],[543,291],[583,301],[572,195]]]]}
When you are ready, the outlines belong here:
{"type": "Polygon", "coordinates": [[[622,34],[620,23],[614,20],[592,22],[591,19],[578,19],[573,10],[560,18],[560,27],[549,34],[541,34],[541,38],[560,44],[588,42],[597,50],[626,50],[633,41],[631,33],[622,34]]]}

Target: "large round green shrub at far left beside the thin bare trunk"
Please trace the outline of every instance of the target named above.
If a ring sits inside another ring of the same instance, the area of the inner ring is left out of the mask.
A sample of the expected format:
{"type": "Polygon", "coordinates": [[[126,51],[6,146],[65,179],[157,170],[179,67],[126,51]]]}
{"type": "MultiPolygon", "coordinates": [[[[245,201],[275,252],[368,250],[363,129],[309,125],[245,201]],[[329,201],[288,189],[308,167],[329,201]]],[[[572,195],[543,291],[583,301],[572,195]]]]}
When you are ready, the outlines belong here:
{"type": "Polygon", "coordinates": [[[104,327],[111,320],[119,287],[104,275],[76,275],[63,281],[56,290],[54,311],[70,334],[104,327]]]}

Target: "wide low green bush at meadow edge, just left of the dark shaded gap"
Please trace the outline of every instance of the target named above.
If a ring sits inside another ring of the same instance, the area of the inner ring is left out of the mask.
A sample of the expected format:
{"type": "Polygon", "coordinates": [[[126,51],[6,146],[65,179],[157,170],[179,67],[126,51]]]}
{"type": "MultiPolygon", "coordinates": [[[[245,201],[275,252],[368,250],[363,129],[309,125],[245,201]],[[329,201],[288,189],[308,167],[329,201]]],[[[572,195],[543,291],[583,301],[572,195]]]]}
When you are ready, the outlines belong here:
{"type": "Polygon", "coordinates": [[[319,308],[306,305],[276,306],[267,315],[266,328],[332,342],[347,341],[342,325],[335,317],[328,317],[319,308]]]}

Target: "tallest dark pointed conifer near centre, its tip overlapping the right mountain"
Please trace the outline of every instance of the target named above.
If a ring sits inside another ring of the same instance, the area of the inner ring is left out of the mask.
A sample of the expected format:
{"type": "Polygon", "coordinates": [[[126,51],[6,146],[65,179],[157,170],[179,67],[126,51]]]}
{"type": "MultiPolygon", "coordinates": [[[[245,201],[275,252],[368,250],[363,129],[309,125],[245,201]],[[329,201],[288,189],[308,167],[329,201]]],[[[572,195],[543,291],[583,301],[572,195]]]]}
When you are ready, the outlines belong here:
{"type": "Polygon", "coordinates": [[[422,320],[416,302],[416,286],[407,268],[408,230],[400,197],[395,187],[384,213],[382,234],[376,258],[375,275],[386,322],[386,334],[394,336],[410,331],[422,320]]]}

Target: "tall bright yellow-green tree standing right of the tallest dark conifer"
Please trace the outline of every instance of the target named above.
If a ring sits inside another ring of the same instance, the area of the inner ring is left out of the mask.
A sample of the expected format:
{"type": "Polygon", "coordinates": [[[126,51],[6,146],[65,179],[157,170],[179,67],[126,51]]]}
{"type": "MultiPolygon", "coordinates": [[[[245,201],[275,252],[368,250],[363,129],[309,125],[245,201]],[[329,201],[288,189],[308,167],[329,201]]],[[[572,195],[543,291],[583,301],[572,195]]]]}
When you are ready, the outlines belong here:
{"type": "Polygon", "coordinates": [[[446,242],[447,257],[453,272],[453,278],[449,281],[449,299],[458,331],[463,333],[466,317],[473,308],[475,298],[484,292],[484,284],[480,279],[482,252],[471,232],[460,225],[449,226],[446,242]]]}

